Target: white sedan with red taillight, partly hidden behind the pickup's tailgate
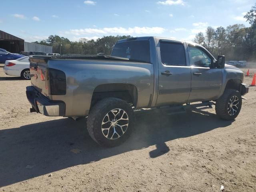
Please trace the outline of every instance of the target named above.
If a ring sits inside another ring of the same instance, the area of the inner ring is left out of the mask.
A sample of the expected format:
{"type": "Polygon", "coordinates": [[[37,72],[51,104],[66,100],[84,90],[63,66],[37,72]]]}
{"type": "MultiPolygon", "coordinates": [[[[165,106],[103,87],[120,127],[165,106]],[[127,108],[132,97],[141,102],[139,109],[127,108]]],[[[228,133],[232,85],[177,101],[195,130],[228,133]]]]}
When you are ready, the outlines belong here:
{"type": "Polygon", "coordinates": [[[29,57],[25,56],[16,60],[5,61],[4,72],[6,75],[22,77],[30,80],[29,57]]]}

